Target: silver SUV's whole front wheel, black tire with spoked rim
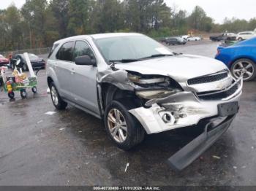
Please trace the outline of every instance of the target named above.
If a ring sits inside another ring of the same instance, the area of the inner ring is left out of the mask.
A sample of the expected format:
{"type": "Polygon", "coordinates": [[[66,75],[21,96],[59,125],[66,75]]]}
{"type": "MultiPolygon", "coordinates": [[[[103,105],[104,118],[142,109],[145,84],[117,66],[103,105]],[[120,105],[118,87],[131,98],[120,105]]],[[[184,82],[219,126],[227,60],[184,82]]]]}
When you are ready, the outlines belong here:
{"type": "Polygon", "coordinates": [[[119,101],[112,101],[105,109],[104,122],[108,136],[117,147],[123,150],[132,149],[140,144],[145,137],[145,130],[135,117],[128,112],[131,106],[131,103],[127,101],[125,105],[119,101]],[[116,115],[118,112],[120,120],[116,123],[114,121],[118,118],[118,115],[116,115]],[[121,123],[125,125],[120,125],[121,123]],[[116,124],[118,124],[117,128],[115,128],[116,124]],[[122,133],[119,133],[120,130],[122,133]]]}

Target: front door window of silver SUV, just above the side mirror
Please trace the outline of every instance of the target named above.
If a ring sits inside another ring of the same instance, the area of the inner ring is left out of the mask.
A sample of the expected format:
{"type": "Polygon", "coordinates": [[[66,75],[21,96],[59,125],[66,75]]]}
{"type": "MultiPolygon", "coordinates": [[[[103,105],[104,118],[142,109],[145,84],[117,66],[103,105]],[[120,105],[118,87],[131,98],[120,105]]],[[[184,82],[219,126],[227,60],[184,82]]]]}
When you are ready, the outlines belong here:
{"type": "Polygon", "coordinates": [[[91,47],[89,47],[89,44],[87,44],[84,41],[77,41],[75,43],[73,61],[75,61],[75,58],[82,55],[89,55],[91,60],[95,60],[94,52],[92,52],[91,47]]]}

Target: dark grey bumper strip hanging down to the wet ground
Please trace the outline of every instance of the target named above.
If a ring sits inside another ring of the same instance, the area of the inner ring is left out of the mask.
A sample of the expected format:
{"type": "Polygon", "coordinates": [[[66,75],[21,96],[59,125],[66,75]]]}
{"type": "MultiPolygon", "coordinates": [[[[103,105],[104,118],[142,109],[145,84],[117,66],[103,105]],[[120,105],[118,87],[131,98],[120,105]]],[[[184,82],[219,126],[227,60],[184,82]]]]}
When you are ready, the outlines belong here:
{"type": "Polygon", "coordinates": [[[212,122],[209,122],[200,136],[197,136],[187,146],[176,152],[175,155],[167,160],[167,163],[175,171],[181,171],[186,168],[227,131],[235,117],[236,114],[230,115],[214,128],[211,127],[212,122]]]}

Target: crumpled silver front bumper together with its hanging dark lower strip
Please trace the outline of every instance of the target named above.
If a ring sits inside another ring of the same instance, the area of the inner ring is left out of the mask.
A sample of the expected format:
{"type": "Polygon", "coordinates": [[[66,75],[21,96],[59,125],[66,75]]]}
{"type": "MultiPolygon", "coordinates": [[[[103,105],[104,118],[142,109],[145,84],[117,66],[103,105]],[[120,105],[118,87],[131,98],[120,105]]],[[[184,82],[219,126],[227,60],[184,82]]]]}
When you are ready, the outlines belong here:
{"type": "Polygon", "coordinates": [[[230,127],[239,110],[243,80],[238,79],[230,88],[235,86],[238,87],[236,92],[221,100],[202,101],[194,93],[181,92],[149,101],[149,108],[140,107],[129,112],[140,121],[148,134],[189,126],[197,128],[196,125],[203,120],[206,124],[204,132],[168,160],[171,168],[181,171],[230,127]]]}

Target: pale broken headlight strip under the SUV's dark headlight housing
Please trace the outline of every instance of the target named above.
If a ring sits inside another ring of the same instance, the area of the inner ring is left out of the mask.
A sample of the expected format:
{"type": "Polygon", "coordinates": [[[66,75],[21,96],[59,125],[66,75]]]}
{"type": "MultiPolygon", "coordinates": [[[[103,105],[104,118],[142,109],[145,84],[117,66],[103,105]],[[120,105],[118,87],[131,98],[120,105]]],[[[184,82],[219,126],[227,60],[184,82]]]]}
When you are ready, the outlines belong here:
{"type": "Polygon", "coordinates": [[[145,99],[159,99],[166,98],[170,95],[180,92],[181,90],[142,90],[138,91],[136,94],[141,98],[145,99]]]}

